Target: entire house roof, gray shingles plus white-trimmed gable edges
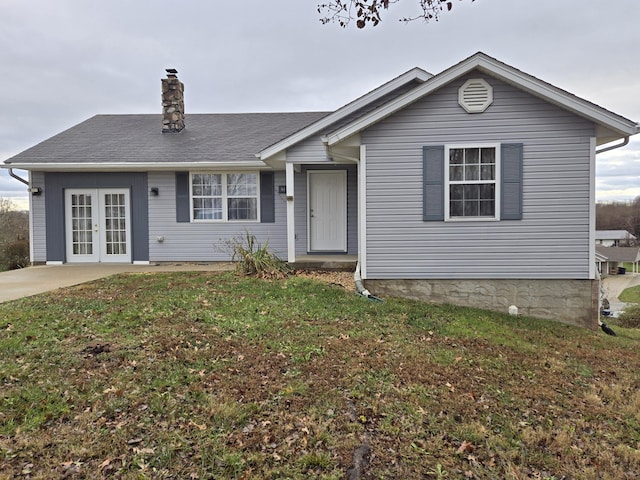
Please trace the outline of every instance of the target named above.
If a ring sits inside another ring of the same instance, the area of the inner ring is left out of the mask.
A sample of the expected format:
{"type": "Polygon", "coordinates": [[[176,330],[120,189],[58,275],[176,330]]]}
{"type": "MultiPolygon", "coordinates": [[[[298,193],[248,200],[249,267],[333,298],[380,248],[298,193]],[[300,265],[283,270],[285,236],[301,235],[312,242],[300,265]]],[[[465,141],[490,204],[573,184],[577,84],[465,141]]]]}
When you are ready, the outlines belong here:
{"type": "Polygon", "coordinates": [[[162,134],[160,115],[97,115],[5,163],[25,169],[53,169],[55,165],[61,169],[106,164],[120,167],[122,163],[129,163],[132,169],[152,163],[159,164],[157,168],[199,162],[260,163],[256,154],[262,160],[275,158],[310,135],[325,134],[329,146],[338,144],[474,69],[592,120],[598,125],[600,143],[638,133],[640,128],[631,120],[478,52],[436,76],[412,69],[336,112],[191,114],[179,134],[162,134]]]}

